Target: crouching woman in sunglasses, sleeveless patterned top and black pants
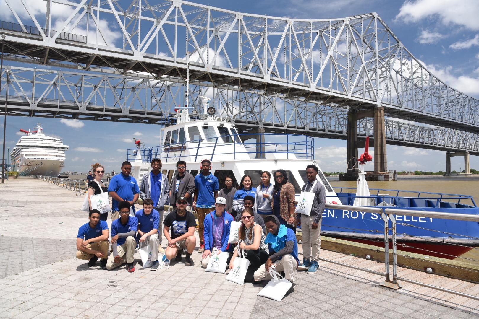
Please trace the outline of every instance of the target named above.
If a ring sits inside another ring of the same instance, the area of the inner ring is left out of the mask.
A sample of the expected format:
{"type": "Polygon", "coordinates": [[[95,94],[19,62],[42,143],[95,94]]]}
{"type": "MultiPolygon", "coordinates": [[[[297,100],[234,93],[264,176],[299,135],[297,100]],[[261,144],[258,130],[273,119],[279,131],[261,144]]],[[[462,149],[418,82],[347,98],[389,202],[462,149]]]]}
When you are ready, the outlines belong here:
{"type": "MultiPolygon", "coordinates": [[[[241,212],[241,227],[239,227],[238,238],[239,248],[245,250],[245,257],[250,262],[248,271],[244,278],[245,282],[253,282],[253,275],[258,268],[266,263],[269,258],[268,245],[264,243],[265,236],[261,226],[254,222],[254,214],[252,209],[245,208],[241,212]]],[[[229,270],[234,267],[234,260],[238,256],[238,250],[235,249],[233,257],[229,262],[229,270]]]]}

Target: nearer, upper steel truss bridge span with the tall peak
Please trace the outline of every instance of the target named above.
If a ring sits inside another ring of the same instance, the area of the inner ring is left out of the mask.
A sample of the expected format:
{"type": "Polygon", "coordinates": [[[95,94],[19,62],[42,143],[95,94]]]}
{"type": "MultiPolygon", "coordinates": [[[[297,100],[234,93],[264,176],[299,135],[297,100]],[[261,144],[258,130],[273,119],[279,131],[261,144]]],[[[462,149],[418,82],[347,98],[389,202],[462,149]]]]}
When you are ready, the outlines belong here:
{"type": "Polygon", "coordinates": [[[190,52],[199,82],[350,110],[380,105],[387,116],[479,132],[479,101],[435,77],[376,13],[298,20],[182,0],[38,1],[46,14],[6,1],[16,22],[0,22],[7,58],[184,78],[190,52]],[[60,6],[68,17],[54,14],[60,6]]]}

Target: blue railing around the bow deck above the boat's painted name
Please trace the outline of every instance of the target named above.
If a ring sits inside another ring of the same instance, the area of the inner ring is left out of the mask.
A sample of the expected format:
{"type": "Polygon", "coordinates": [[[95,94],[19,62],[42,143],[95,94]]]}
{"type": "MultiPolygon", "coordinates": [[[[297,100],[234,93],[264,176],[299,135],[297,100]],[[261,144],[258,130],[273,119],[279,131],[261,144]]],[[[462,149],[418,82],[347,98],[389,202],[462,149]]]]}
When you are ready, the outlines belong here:
{"type": "MultiPolygon", "coordinates": [[[[421,200],[431,200],[435,201],[435,206],[433,208],[440,207],[441,202],[456,202],[457,204],[464,204],[472,203],[474,207],[477,207],[476,202],[472,196],[468,195],[460,195],[460,194],[444,194],[444,193],[434,193],[434,192],[420,192],[420,191],[412,191],[412,190],[398,190],[398,189],[384,189],[384,188],[369,188],[369,192],[371,196],[364,197],[364,196],[356,196],[354,193],[356,188],[354,187],[332,187],[336,194],[348,194],[348,195],[336,195],[334,197],[338,198],[380,198],[380,199],[388,199],[390,203],[398,202],[400,200],[408,200],[408,199],[421,199],[421,200]],[[384,192],[393,193],[391,194],[384,194],[384,192]],[[395,193],[395,194],[394,194],[395,193]],[[400,195],[404,194],[404,196],[400,195]],[[411,194],[414,194],[411,196],[411,194]]],[[[429,206],[431,207],[431,206],[429,206]]]]}

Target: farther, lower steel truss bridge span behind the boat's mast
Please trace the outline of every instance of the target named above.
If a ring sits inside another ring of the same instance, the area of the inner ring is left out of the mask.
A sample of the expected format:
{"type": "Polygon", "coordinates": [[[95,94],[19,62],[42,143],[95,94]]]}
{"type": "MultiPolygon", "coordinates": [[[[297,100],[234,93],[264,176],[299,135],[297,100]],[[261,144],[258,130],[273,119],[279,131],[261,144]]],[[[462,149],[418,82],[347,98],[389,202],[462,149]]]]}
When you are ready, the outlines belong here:
{"type": "MultiPolygon", "coordinates": [[[[157,80],[148,75],[32,69],[7,66],[8,114],[96,121],[165,124],[176,121],[174,109],[184,103],[184,81],[179,77],[157,80]]],[[[1,92],[6,93],[4,81],[1,92]]],[[[268,132],[306,133],[309,136],[346,139],[347,110],[298,99],[266,96],[239,89],[214,88],[193,81],[191,105],[201,118],[201,96],[211,96],[217,116],[242,130],[258,123],[268,132]]],[[[1,95],[0,101],[5,102],[1,95]]],[[[454,129],[425,127],[386,119],[388,144],[441,151],[469,151],[479,155],[479,135],[454,129]]],[[[358,121],[359,139],[374,137],[372,118],[358,121]]]]}

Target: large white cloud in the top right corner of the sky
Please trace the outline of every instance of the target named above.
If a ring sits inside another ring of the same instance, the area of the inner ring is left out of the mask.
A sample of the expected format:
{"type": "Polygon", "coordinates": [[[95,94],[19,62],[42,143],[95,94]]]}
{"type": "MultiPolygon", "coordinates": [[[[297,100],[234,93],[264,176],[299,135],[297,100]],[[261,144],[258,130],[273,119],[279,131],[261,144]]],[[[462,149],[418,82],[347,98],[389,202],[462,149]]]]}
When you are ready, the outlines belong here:
{"type": "Polygon", "coordinates": [[[395,20],[419,22],[429,17],[439,17],[444,24],[458,24],[479,30],[479,1],[477,0],[416,0],[405,1],[395,20]]]}

